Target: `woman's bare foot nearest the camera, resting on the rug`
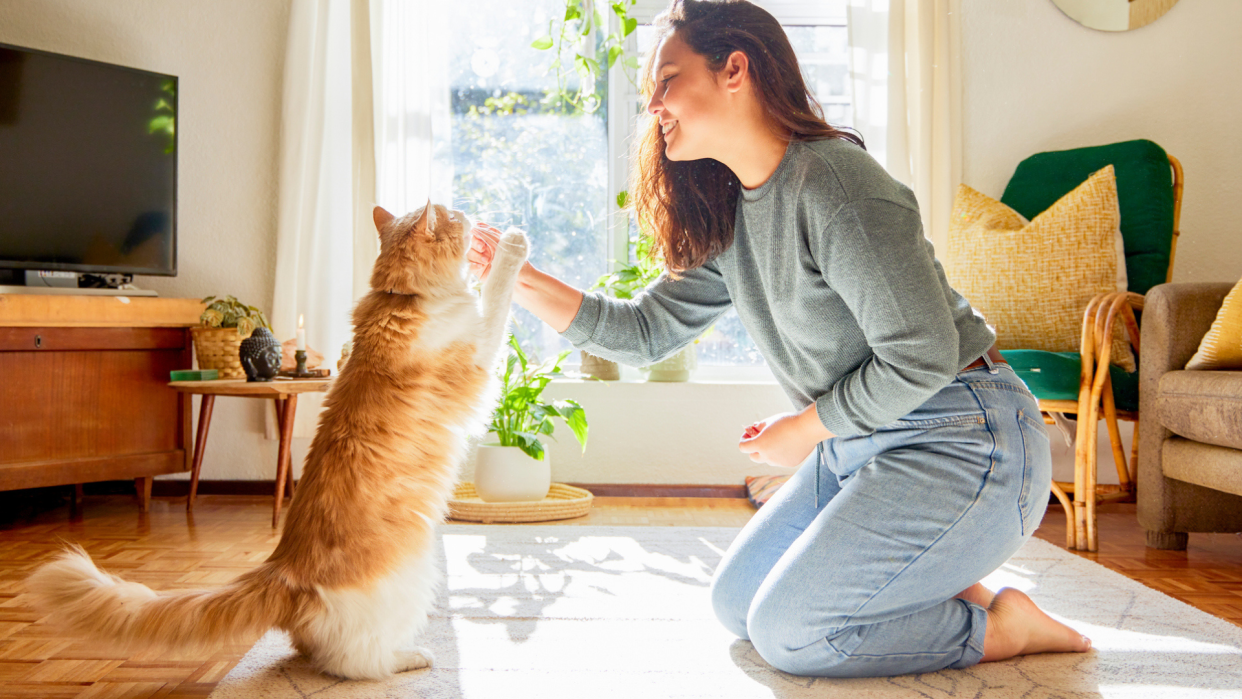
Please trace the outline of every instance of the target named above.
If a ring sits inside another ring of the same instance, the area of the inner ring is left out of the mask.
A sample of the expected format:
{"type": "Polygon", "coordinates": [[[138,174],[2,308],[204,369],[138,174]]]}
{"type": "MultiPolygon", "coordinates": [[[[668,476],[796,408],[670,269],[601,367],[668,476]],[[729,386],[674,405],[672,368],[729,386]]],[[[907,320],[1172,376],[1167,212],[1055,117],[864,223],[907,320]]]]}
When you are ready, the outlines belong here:
{"type": "Polygon", "coordinates": [[[1021,590],[1004,587],[987,607],[981,663],[1032,653],[1086,653],[1090,638],[1043,613],[1021,590]]]}

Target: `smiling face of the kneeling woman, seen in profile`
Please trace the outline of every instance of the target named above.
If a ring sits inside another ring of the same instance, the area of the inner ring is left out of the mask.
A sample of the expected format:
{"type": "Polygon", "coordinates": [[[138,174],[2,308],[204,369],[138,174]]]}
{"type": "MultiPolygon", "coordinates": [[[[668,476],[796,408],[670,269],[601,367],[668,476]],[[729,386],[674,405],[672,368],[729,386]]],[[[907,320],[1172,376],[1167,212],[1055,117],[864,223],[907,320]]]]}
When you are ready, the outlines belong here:
{"type": "Polygon", "coordinates": [[[707,58],[677,32],[660,43],[652,61],[655,89],[647,112],[660,119],[669,160],[719,159],[729,138],[729,89],[707,58]]]}

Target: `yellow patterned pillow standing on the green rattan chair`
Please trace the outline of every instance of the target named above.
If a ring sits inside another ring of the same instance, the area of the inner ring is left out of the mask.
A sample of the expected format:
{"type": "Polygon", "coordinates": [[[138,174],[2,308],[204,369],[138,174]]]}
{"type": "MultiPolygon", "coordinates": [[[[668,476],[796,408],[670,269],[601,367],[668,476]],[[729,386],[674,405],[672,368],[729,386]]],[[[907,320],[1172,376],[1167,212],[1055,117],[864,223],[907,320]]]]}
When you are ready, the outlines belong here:
{"type": "MultiPolygon", "coordinates": [[[[1078,351],[1090,299],[1126,288],[1113,166],[1094,173],[1033,221],[960,185],[944,272],[996,329],[1001,349],[1078,351]]],[[[1112,361],[1135,370],[1122,323],[1112,361]]]]}

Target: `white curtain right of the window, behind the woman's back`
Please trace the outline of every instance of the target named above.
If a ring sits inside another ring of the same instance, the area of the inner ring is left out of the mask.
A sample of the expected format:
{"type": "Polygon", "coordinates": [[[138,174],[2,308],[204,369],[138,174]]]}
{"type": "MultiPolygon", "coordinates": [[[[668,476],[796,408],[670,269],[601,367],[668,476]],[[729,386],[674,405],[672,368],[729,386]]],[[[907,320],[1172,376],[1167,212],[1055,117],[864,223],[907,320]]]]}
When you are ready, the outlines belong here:
{"type": "Polygon", "coordinates": [[[850,0],[854,127],[944,250],[961,181],[960,0],[850,0]]]}

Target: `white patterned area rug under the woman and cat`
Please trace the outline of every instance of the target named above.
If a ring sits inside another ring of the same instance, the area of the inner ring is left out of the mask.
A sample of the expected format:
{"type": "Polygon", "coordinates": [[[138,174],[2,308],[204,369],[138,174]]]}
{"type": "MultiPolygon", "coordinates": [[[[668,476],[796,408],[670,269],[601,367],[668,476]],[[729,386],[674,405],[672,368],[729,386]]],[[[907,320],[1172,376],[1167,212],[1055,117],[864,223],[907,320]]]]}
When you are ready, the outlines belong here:
{"type": "Polygon", "coordinates": [[[1242,698],[1242,628],[1040,540],[985,584],[1026,591],[1088,634],[1090,653],[887,679],[776,672],[712,615],[708,582],[737,531],[445,526],[447,585],[416,642],[433,668],[344,682],[272,632],[211,697],[1242,698]]]}

